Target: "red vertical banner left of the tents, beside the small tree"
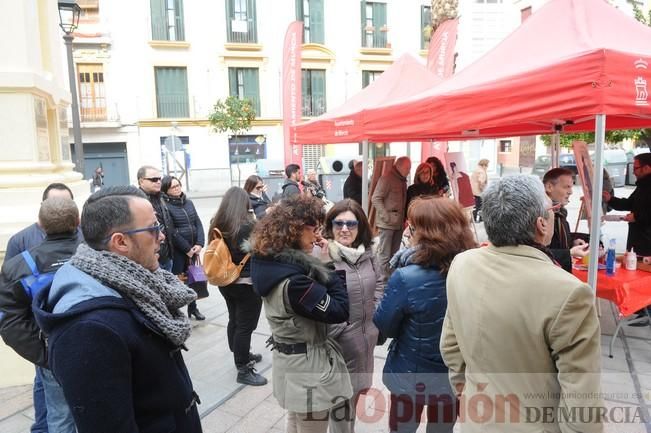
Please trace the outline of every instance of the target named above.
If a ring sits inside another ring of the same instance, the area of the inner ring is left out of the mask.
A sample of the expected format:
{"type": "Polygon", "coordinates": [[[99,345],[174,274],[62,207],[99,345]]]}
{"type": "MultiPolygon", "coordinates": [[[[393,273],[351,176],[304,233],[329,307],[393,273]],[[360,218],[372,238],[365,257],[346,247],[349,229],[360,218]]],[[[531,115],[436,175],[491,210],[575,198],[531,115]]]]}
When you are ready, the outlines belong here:
{"type": "Polygon", "coordinates": [[[294,126],[301,121],[303,113],[301,94],[301,49],[303,45],[303,22],[294,21],[287,28],[283,46],[283,135],[285,140],[285,165],[303,165],[301,144],[292,144],[294,126]]]}

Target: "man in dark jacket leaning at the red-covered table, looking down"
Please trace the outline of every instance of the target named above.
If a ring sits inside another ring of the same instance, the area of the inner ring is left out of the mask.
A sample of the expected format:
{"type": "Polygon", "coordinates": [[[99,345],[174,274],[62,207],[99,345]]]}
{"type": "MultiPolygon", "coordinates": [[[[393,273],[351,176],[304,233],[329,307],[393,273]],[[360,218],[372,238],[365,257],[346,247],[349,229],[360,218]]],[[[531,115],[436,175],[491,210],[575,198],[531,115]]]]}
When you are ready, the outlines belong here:
{"type": "Polygon", "coordinates": [[[556,261],[567,272],[572,272],[572,257],[585,257],[589,252],[589,245],[576,233],[570,231],[567,222],[567,209],[570,202],[574,173],[566,168],[552,168],[543,176],[545,192],[552,200],[554,211],[554,237],[549,248],[556,261]]]}

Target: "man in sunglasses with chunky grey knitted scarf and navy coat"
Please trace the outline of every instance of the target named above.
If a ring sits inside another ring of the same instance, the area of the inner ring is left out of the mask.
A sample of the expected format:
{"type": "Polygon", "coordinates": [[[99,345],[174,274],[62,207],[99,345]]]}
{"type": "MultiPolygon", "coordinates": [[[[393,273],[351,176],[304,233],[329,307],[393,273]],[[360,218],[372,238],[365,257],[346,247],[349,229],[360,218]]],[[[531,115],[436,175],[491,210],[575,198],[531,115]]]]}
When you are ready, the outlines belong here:
{"type": "Polygon", "coordinates": [[[196,294],[159,268],[154,208],[136,187],[106,187],[81,221],[87,245],[34,302],[78,433],[200,433],[181,355],[191,331],[181,307],[196,294]]]}

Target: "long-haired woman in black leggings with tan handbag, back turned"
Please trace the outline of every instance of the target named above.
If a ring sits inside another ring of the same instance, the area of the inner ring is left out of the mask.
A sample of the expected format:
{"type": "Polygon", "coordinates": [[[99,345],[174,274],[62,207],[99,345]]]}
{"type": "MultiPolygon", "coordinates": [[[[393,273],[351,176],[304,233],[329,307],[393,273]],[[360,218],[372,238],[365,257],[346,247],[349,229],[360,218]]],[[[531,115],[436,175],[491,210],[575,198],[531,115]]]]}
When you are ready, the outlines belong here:
{"type": "MultiPolygon", "coordinates": [[[[208,241],[214,238],[214,229],[218,229],[231,253],[233,263],[241,263],[248,251],[244,251],[244,244],[248,244],[249,237],[255,226],[255,217],[249,202],[249,196],[242,188],[233,186],[226,191],[217,209],[217,213],[210,220],[208,241]]],[[[262,355],[251,353],[251,335],[258,327],[262,300],[253,291],[251,281],[251,260],[247,260],[240,272],[240,277],[228,286],[219,288],[219,292],[226,300],[228,309],[228,326],[226,333],[228,347],[233,352],[233,361],[237,368],[237,383],[251,386],[267,384],[264,376],[256,373],[255,363],[262,361],[262,355]]]]}

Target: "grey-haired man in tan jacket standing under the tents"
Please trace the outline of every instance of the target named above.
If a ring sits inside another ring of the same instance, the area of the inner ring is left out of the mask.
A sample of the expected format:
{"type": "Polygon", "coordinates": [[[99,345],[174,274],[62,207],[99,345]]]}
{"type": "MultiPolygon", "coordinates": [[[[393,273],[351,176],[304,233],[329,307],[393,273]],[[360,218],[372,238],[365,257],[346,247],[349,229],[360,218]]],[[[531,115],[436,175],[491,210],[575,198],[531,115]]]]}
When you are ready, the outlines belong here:
{"type": "Polygon", "coordinates": [[[389,261],[400,248],[402,231],[407,214],[407,176],[411,161],[406,156],[396,159],[393,168],[378,180],[371,202],[375,207],[375,225],[379,232],[378,261],[386,276],[390,273],[389,261]]]}

